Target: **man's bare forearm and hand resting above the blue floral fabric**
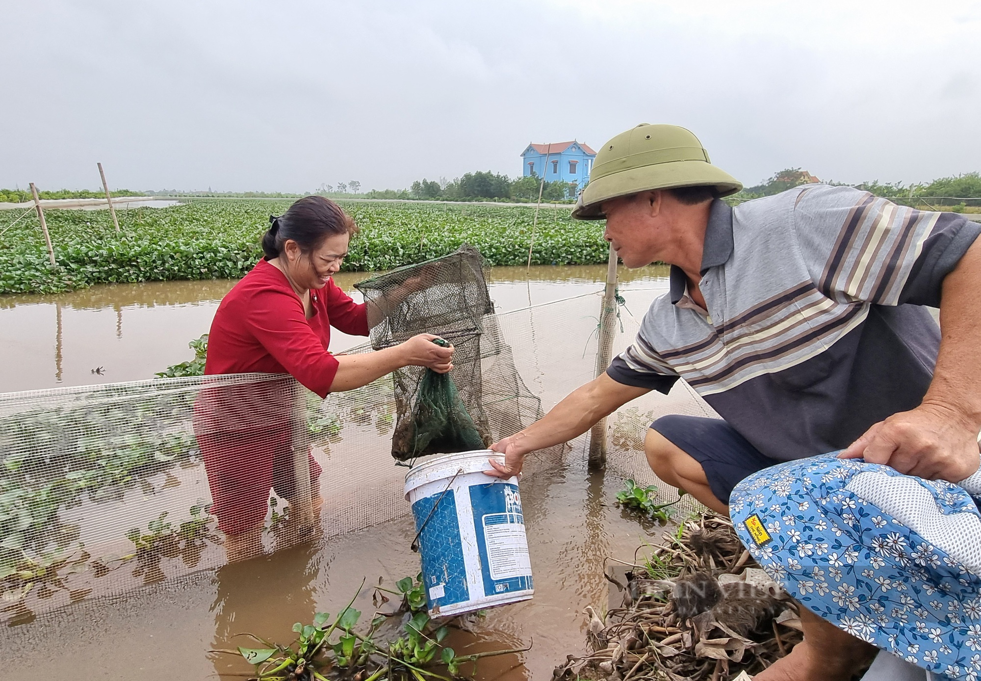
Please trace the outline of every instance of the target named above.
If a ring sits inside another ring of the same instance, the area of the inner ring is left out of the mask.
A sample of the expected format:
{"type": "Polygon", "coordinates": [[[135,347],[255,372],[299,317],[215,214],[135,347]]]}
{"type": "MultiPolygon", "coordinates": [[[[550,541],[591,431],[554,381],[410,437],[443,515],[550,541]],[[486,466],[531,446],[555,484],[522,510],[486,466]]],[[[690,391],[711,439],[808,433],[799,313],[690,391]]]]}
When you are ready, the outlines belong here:
{"type": "Polygon", "coordinates": [[[959,482],[978,469],[981,430],[981,237],[944,278],[940,353],[922,403],[880,421],[842,458],[959,482]]]}

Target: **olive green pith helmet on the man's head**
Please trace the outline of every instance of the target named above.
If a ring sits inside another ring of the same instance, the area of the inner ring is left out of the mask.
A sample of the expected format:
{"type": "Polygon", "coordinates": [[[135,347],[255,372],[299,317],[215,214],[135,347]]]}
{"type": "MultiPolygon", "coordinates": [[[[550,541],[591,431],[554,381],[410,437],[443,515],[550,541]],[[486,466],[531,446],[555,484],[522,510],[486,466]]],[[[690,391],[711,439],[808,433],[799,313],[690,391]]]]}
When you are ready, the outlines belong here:
{"type": "Polygon", "coordinates": [[[713,166],[691,131],[642,123],[603,144],[572,217],[601,220],[603,201],[676,186],[714,186],[719,196],[728,196],[743,183],[713,166]]]}

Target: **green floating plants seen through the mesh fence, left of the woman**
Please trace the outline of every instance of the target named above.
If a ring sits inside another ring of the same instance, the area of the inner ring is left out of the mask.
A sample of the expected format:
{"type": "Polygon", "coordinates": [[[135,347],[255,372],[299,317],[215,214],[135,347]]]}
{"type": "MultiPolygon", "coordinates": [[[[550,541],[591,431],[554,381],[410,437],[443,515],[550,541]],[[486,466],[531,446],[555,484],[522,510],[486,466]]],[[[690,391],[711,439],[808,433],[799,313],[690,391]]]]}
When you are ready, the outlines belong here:
{"type": "Polygon", "coordinates": [[[148,478],[198,462],[192,434],[173,417],[189,413],[193,395],[151,395],[125,406],[116,396],[106,388],[88,402],[0,419],[0,567],[5,550],[44,553],[75,542],[77,527],[57,520],[61,509],[83,498],[119,500],[137,485],[154,494],[148,478]]]}

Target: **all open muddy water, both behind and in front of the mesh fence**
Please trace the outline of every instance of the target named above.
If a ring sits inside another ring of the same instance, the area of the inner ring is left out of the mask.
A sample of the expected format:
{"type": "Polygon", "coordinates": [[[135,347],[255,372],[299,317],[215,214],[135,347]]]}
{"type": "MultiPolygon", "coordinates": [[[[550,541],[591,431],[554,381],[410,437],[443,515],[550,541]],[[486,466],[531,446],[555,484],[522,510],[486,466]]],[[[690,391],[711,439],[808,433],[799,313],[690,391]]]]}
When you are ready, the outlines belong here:
{"type": "MultiPolygon", "coordinates": [[[[591,266],[538,267],[531,273],[495,268],[488,281],[497,309],[504,312],[594,292],[604,275],[605,267],[591,266]]],[[[636,329],[646,304],[666,288],[666,275],[666,268],[621,269],[627,325],[616,348],[631,340],[630,330],[636,329]]],[[[352,290],[365,277],[346,274],[337,282],[352,290]]],[[[3,390],[149,378],[189,358],[187,340],[208,330],[232,285],[173,282],[2,298],[0,346],[8,358],[0,369],[3,390]],[[104,375],[91,373],[98,366],[104,375]]],[[[543,408],[592,376],[597,306],[598,298],[590,296],[500,317],[521,376],[543,408]]],[[[338,334],[332,349],[361,341],[338,334]]],[[[321,490],[327,539],[234,564],[223,564],[224,550],[209,545],[203,553],[166,558],[156,573],[137,574],[130,563],[105,579],[95,575],[88,583],[94,591],[77,602],[68,602],[64,594],[34,600],[30,604],[37,616],[9,620],[0,637],[0,659],[7,661],[0,665],[0,681],[25,678],[28,669],[55,678],[232,681],[249,675],[251,666],[240,657],[209,652],[251,645],[237,634],[251,632],[285,645],[294,637],[294,622],[309,623],[320,611],[336,613],[363,579],[366,588],[355,607],[370,617],[375,610],[371,587],[379,577],[390,588],[418,572],[419,557],[409,549],[414,528],[401,498],[405,469],[392,466],[387,451],[390,424],[382,427],[371,417],[391,408],[390,395],[368,393],[373,396],[360,398],[357,414],[342,414],[336,437],[313,449],[325,471],[321,490]]],[[[344,394],[333,395],[327,407],[342,412],[346,402],[337,400],[344,394]]],[[[672,395],[656,399],[658,409],[693,408],[680,384],[672,395]]],[[[638,547],[657,541],[660,528],[613,505],[623,480],[645,469],[639,444],[650,408],[631,406],[611,419],[605,473],[587,470],[581,439],[559,456],[558,466],[552,465],[556,461],[536,466],[522,481],[535,598],[489,610],[469,630],[454,630],[448,645],[458,655],[533,648],[481,660],[476,678],[550,678],[565,655],[583,650],[583,608],[606,605],[606,558],[629,561],[638,547]]],[[[115,501],[86,501],[66,509],[63,520],[77,522],[86,549],[100,556],[126,550],[129,527],[144,527],[161,510],[176,513],[208,497],[197,463],[147,481],[149,493],[137,487],[115,501]],[[122,545],[99,547],[106,538],[122,545]]],[[[267,548],[274,549],[278,541],[271,533],[267,548]]]]}

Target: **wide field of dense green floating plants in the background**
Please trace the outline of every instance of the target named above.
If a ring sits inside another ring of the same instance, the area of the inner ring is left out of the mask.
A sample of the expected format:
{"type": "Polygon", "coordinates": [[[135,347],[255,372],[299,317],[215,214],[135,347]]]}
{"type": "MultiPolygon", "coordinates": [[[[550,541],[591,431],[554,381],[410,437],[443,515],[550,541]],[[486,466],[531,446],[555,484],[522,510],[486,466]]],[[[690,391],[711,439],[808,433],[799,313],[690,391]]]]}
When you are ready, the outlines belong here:
{"type": "MultiPolygon", "coordinates": [[[[93,284],[235,279],[262,256],[269,215],[291,201],[194,200],[117,212],[50,210],[45,219],[57,266],[48,261],[37,217],[0,237],[0,293],[53,293],[93,284]]],[[[339,202],[361,228],[343,270],[378,272],[476,246],[490,265],[523,265],[535,209],[467,204],[339,202]]],[[[0,223],[0,231],[4,227],[0,223]]],[[[532,263],[605,263],[603,226],[548,209],[534,228],[532,263]]]]}

